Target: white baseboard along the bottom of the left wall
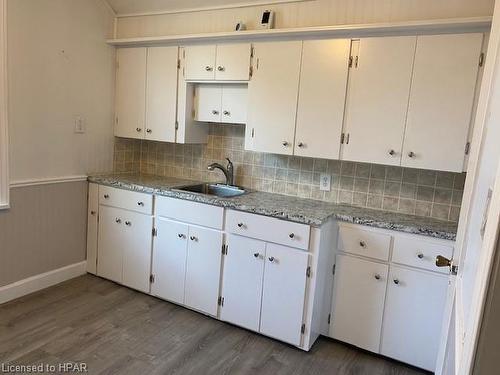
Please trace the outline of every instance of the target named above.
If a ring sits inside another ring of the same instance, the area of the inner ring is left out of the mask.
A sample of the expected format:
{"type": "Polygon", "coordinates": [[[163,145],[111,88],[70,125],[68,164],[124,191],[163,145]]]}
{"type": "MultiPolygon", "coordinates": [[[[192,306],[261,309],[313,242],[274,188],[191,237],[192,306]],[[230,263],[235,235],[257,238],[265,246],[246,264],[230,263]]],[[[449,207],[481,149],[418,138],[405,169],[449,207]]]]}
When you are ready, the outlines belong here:
{"type": "Polygon", "coordinates": [[[85,274],[87,261],[70,264],[0,287],[0,304],[85,274]]]}

